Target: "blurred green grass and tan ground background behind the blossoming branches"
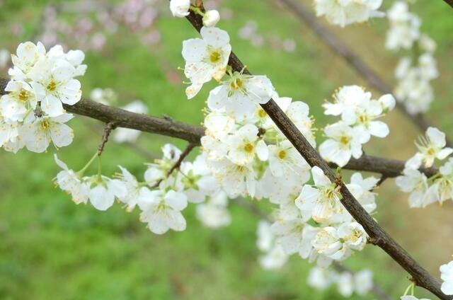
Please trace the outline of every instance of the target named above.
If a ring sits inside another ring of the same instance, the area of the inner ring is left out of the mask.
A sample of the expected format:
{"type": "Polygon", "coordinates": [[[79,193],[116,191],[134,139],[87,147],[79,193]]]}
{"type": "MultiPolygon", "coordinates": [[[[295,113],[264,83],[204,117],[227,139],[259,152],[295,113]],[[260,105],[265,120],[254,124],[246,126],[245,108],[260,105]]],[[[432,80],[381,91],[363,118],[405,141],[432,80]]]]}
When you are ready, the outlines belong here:
{"type": "MultiPolygon", "coordinates": [[[[302,3],[311,7],[309,0],[302,3]]],[[[391,3],[384,1],[383,10],[391,3]]],[[[331,121],[322,115],[321,104],[331,100],[336,88],[358,84],[369,89],[277,0],[206,4],[219,9],[218,26],[229,32],[234,51],[253,73],[268,75],[280,96],[310,105],[315,127],[331,121]]],[[[438,45],[435,57],[441,75],[433,81],[436,96],[427,117],[453,137],[453,11],[440,0],[418,1],[413,11],[423,20],[421,30],[438,45]]],[[[185,98],[183,72],[177,68],[184,65],[182,41],[197,33],[185,20],[171,17],[165,0],[6,0],[0,1],[0,24],[0,48],[8,52],[15,52],[26,40],[84,50],[88,65],[80,79],[84,97],[93,88],[112,88],[118,95],[114,105],[139,99],[151,115],[165,114],[193,125],[202,122],[202,108],[214,85],[193,100],[185,98]]],[[[344,29],[327,26],[394,84],[399,57],[384,49],[385,19],[344,29]]],[[[7,76],[8,64],[0,66],[2,77],[7,76]]],[[[373,96],[381,95],[373,91],[373,96]]],[[[396,110],[384,121],[391,134],[384,140],[372,139],[365,152],[411,157],[418,129],[396,110]]],[[[89,205],[75,205],[52,183],[59,170],[53,153],[70,168],[80,169],[96,151],[103,125],[84,117],[74,118],[70,125],[75,139],[64,149],[0,153],[0,299],[343,299],[335,287],[324,292],[309,287],[306,277],[311,265],[297,255],[281,270],[263,270],[256,248],[259,219],[234,202],[229,206],[230,226],[207,229],[189,206],[184,212],[188,229],[163,236],[146,229],[137,211],[127,213],[113,206],[99,212],[89,205]]],[[[321,141],[321,132],[317,136],[321,141]]],[[[103,173],[112,175],[121,165],[141,179],[144,163],[161,156],[166,142],[185,146],[151,134],[142,134],[129,145],[109,142],[103,173]]],[[[398,192],[394,180],[387,180],[378,192],[374,217],[439,276],[438,267],[452,260],[452,202],[409,209],[407,195],[398,192]]],[[[257,204],[269,209],[265,203],[257,204]]],[[[345,265],[372,270],[374,281],[395,299],[409,284],[406,272],[374,246],[345,265]]],[[[424,295],[421,289],[417,294],[424,295]]],[[[351,299],[375,298],[369,294],[351,299]]]]}

